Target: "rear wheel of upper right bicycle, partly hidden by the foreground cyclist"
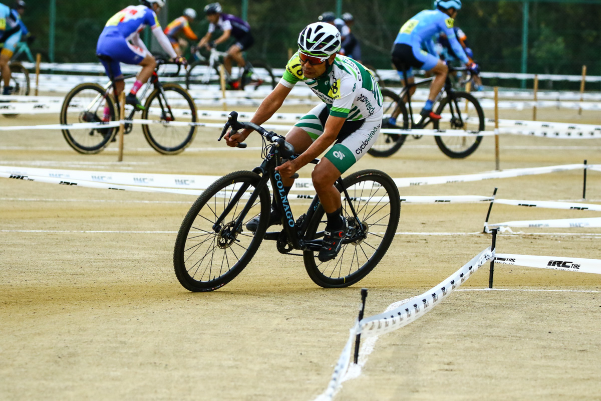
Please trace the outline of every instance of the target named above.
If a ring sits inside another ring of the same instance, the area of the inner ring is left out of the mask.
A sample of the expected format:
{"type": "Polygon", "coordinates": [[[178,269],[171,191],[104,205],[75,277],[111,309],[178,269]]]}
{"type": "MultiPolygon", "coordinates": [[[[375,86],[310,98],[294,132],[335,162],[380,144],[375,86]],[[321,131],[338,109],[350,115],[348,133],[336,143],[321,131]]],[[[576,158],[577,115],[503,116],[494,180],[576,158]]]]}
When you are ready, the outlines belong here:
{"type": "MultiPolygon", "coordinates": [[[[382,128],[409,128],[407,108],[396,93],[388,89],[382,90],[382,109],[384,111],[382,128]],[[388,121],[388,118],[393,115],[397,115],[396,124],[391,124],[388,121]]],[[[380,135],[367,153],[376,158],[386,158],[397,152],[406,138],[407,135],[380,132],[380,135]]]]}

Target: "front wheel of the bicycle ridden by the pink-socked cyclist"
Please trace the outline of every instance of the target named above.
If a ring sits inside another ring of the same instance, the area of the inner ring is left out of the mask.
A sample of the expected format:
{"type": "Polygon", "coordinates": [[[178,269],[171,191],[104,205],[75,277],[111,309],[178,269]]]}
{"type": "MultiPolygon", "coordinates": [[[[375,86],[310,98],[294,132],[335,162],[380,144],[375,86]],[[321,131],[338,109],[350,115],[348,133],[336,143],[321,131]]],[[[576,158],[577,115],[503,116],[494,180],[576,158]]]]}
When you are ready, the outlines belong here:
{"type": "Polygon", "coordinates": [[[142,124],[142,131],[148,144],[163,155],[177,155],[188,147],[194,136],[196,105],[184,88],[178,84],[162,84],[163,91],[152,91],[144,104],[142,119],[157,121],[156,124],[142,124]],[[169,122],[173,124],[159,124],[169,122]],[[185,123],[177,125],[177,123],[185,123]]]}

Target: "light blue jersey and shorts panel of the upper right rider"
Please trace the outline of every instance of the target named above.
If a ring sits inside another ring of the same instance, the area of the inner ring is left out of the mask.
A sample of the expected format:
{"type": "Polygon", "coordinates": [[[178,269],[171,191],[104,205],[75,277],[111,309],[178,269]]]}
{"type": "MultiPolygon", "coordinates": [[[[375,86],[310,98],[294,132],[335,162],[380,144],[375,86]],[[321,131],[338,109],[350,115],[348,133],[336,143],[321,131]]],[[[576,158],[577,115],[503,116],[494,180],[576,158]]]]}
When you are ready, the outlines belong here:
{"type": "MultiPolygon", "coordinates": [[[[451,49],[457,58],[464,64],[468,64],[468,56],[457,40],[453,26],[454,19],[441,10],[423,10],[401,26],[394,43],[411,46],[413,57],[422,63],[421,69],[429,71],[439,60],[433,38],[442,32],[447,35],[451,49]]],[[[407,71],[407,76],[412,76],[412,69],[407,71]]]]}

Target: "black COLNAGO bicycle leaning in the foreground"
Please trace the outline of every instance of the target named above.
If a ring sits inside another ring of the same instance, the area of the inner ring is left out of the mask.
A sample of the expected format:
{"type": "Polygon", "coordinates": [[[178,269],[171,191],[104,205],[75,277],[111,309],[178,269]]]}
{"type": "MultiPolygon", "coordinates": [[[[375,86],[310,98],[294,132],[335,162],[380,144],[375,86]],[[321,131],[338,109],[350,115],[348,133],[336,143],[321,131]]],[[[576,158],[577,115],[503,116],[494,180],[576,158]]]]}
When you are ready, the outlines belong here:
{"type": "MultiPolygon", "coordinates": [[[[326,216],[317,195],[280,192],[282,177],[275,167],[293,159],[294,148],[283,136],[253,123],[237,121],[231,112],[219,139],[227,129],[248,128],[263,137],[263,162],[252,171],[236,171],[221,177],[198,197],[182,222],[175,240],[175,275],[186,289],[212,291],[225,286],[251,261],[263,239],[276,242],[279,253],[302,256],[309,277],[322,287],[347,287],[365,277],[390,246],[400,216],[400,197],[394,181],[379,170],[363,170],[339,178],[348,230],[338,256],[319,262],[326,216]],[[267,232],[275,194],[283,228],[267,232]],[[312,199],[306,213],[294,219],[288,198],[312,199]],[[259,216],[255,231],[246,224],[259,216]],[[302,254],[292,253],[299,249],[302,254]]],[[[246,144],[239,144],[246,147],[246,144]]],[[[318,159],[312,163],[317,164],[318,159]]],[[[297,177],[297,174],[294,175],[297,177]]]]}

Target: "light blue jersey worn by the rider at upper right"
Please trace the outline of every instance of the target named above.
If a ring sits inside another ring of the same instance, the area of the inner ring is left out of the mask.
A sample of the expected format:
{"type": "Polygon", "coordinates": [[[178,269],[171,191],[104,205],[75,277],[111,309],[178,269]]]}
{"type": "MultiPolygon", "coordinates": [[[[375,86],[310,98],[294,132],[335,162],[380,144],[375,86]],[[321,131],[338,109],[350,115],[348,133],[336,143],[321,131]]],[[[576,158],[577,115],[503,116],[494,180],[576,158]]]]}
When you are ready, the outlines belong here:
{"type": "Polygon", "coordinates": [[[409,44],[413,49],[424,47],[427,52],[436,55],[433,37],[444,32],[447,34],[453,52],[459,57],[459,60],[467,64],[469,59],[457,41],[453,30],[454,23],[454,19],[441,10],[420,11],[401,26],[394,43],[409,44]]]}

